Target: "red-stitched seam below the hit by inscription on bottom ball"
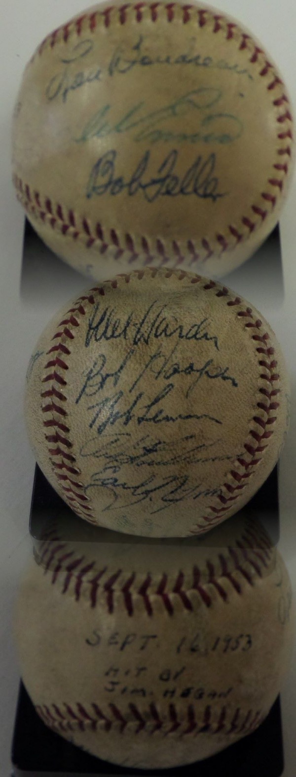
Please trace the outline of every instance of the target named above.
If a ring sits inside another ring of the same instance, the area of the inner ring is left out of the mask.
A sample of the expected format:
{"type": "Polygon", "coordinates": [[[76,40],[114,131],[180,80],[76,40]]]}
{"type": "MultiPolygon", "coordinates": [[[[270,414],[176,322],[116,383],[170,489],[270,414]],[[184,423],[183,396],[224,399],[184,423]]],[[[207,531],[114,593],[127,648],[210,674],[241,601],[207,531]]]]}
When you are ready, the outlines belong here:
{"type": "Polygon", "coordinates": [[[201,733],[223,733],[225,736],[231,734],[237,736],[239,733],[251,733],[260,726],[265,717],[261,710],[255,712],[253,709],[248,709],[246,711],[237,707],[234,713],[229,713],[227,707],[223,706],[217,720],[216,711],[214,716],[211,705],[207,705],[202,713],[201,723],[198,723],[196,710],[192,704],[187,707],[187,718],[185,717],[184,720],[182,715],[182,720],[179,720],[174,704],[171,703],[168,706],[168,714],[165,718],[161,716],[157,705],[151,702],[148,708],[150,720],[146,720],[136,704],[129,703],[128,708],[132,720],[127,720],[126,713],[119,710],[115,704],[108,704],[108,711],[105,714],[95,702],[90,704],[88,708],[81,702],[71,705],[64,702],[63,706],[57,704],[36,705],[36,712],[46,723],[46,726],[50,726],[60,733],[75,732],[77,729],[82,732],[97,731],[99,727],[103,728],[105,732],[109,732],[112,730],[112,726],[116,725],[119,733],[124,733],[126,727],[129,730],[131,726],[133,728],[136,726],[133,733],[148,730],[148,733],[153,734],[164,728],[163,734],[165,736],[177,730],[179,736],[186,734],[198,736],[201,733]],[[182,730],[183,726],[184,730],[182,730]]]}

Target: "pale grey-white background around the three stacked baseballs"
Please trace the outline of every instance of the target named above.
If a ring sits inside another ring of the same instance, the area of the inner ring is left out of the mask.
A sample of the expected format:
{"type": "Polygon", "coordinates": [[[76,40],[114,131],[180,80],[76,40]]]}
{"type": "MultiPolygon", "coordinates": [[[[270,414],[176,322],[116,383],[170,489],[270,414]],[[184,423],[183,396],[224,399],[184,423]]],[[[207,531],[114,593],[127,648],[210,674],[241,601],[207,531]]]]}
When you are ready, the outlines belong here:
{"type": "MultiPolygon", "coordinates": [[[[19,685],[19,672],[11,636],[12,605],[23,563],[31,552],[28,536],[29,503],[33,482],[33,455],[22,419],[24,375],[37,336],[50,315],[85,280],[63,274],[55,294],[54,281],[40,289],[34,301],[21,297],[23,214],[15,200],[10,172],[10,126],[22,69],[33,50],[50,30],[87,6],[81,0],[0,0],[0,777],[10,772],[10,746],[19,685]],[[67,290],[69,278],[69,293],[67,290]]],[[[219,0],[219,9],[236,16],[262,41],[281,70],[296,107],[296,4],[294,0],[219,0]]],[[[250,165],[253,160],[250,159],[250,165]]],[[[291,372],[291,430],[281,459],[281,545],[296,592],[296,177],[281,218],[285,298],[275,304],[276,290],[265,265],[262,304],[256,305],[270,320],[291,372]],[[271,293],[272,291],[272,293],[271,293]]],[[[53,264],[53,270],[57,263],[53,264]]],[[[58,272],[58,270],[57,270],[58,272]]],[[[54,276],[53,276],[54,278],[54,276]]],[[[256,281],[254,280],[254,287],[256,281]]],[[[38,290],[37,290],[38,291],[38,290]]],[[[236,291],[242,291],[236,287],[236,291]]],[[[255,290],[254,290],[255,291],[255,290]]],[[[255,299],[249,294],[251,301],[255,299]]],[[[285,777],[294,777],[296,763],[296,650],[282,694],[285,777]]],[[[265,777],[265,775],[264,775],[265,777]]],[[[267,775],[268,777],[268,775],[267,775]]]]}

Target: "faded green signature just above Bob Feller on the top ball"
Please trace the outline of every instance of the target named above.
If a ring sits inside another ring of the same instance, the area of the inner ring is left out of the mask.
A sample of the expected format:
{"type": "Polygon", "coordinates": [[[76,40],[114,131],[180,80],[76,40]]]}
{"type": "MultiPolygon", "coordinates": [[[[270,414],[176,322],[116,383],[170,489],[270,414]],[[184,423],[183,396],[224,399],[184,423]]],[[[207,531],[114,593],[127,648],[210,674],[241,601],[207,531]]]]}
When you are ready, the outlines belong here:
{"type": "Polygon", "coordinates": [[[108,138],[114,134],[133,132],[133,141],[146,141],[151,145],[159,141],[229,145],[243,134],[243,123],[239,117],[222,110],[218,113],[208,113],[210,108],[221,103],[222,96],[220,89],[201,86],[149,113],[145,113],[146,103],[142,100],[124,111],[119,120],[113,122],[114,106],[107,103],[91,116],[76,142],[85,143],[91,138],[108,138]],[[184,118],[189,114],[194,120],[194,131],[191,132],[184,131],[184,118]],[[197,118],[201,121],[199,128],[196,127],[197,118]],[[160,127],[160,124],[163,125],[168,120],[175,123],[178,119],[181,119],[181,130],[173,131],[171,127],[160,127]]]}

